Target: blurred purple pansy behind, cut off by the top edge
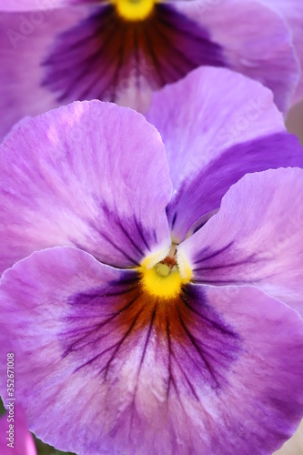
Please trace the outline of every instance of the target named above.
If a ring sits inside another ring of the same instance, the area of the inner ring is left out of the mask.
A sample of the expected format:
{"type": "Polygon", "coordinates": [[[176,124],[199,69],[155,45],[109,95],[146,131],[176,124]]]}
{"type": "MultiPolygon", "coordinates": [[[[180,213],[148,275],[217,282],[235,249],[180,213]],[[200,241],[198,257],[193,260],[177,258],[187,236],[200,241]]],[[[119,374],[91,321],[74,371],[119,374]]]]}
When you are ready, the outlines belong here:
{"type": "Polygon", "coordinates": [[[197,66],[258,79],[284,111],[298,84],[301,48],[261,1],[1,0],[1,9],[0,136],[23,116],[74,100],[145,110],[151,90],[197,66]]]}

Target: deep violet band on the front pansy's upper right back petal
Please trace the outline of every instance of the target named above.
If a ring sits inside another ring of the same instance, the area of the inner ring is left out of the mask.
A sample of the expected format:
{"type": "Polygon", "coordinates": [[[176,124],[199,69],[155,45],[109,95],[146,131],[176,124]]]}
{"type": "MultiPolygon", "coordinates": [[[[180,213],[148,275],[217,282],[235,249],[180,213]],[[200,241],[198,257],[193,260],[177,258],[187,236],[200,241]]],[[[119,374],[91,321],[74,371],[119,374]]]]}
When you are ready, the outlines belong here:
{"type": "Polygon", "coordinates": [[[167,218],[174,236],[183,240],[199,218],[220,207],[229,187],[247,172],[283,166],[303,167],[303,149],[298,138],[285,132],[227,148],[197,176],[184,180],[169,202],[167,218]]]}

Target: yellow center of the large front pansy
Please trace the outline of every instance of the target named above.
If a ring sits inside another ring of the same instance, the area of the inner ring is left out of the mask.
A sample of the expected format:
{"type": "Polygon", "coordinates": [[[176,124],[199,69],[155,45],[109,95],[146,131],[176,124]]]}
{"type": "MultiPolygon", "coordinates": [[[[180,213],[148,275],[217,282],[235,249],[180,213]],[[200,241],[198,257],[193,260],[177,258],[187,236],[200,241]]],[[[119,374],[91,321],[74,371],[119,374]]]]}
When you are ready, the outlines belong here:
{"type": "Polygon", "coordinates": [[[140,268],[143,289],[154,297],[176,298],[183,285],[187,284],[191,273],[181,274],[177,265],[176,248],[172,248],[167,258],[154,267],[140,268]],[[183,276],[182,276],[183,275],[183,276]]]}

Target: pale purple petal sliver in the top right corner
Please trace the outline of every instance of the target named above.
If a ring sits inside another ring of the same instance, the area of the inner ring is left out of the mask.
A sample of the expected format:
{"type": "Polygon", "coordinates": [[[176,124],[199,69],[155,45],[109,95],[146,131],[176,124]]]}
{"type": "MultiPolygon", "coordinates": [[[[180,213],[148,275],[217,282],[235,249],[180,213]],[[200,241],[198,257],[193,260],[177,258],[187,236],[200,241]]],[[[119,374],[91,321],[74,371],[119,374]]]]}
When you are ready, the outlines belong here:
{"type": "Polygon", "coordinates": [[[260,0],[263,4],[278,11],[290,26],[293,42],[301,64],[301,76],[292,102],[303,97],[303,3],[300,0],[260,0]]]}

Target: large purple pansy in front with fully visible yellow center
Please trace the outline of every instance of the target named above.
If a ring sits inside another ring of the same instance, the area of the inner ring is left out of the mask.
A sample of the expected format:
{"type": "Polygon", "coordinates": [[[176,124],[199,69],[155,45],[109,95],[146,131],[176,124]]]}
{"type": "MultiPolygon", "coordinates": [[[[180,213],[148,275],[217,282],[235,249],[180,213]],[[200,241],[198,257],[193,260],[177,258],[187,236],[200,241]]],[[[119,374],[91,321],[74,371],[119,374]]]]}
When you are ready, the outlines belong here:
{"type": "Polygon", "coordinates": [[[147,118],[76,102],[1,146],[0,355],[58,449],[269,454],[303,415],[302,149],[224,69],[147,118]]]}

